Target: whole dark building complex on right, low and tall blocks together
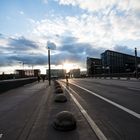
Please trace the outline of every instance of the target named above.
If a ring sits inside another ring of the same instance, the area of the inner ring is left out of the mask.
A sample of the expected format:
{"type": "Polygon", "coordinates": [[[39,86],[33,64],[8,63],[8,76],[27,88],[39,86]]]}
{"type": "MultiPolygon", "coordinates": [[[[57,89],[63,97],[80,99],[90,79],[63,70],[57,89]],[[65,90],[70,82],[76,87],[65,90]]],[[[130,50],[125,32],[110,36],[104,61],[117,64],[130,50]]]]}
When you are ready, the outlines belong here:
{"type": "Polygon", "coordinates": [[[140,73],[140,57],[106,50],[101,59],[87,57],[87,75],[140,73]]]}

